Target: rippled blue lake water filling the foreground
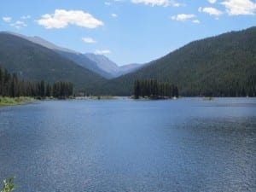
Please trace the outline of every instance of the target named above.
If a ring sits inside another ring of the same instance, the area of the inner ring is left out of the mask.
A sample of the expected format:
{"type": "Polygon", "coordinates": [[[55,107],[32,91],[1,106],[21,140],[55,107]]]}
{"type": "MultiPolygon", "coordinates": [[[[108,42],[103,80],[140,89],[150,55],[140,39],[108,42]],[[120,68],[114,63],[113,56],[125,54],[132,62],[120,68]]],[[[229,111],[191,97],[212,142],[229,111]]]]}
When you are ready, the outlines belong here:
{"type": "Polygon", "coordinates": [[[12,176],[17,192],[253,192],[256,99],[0,108],[0,179],[12,176]]]}

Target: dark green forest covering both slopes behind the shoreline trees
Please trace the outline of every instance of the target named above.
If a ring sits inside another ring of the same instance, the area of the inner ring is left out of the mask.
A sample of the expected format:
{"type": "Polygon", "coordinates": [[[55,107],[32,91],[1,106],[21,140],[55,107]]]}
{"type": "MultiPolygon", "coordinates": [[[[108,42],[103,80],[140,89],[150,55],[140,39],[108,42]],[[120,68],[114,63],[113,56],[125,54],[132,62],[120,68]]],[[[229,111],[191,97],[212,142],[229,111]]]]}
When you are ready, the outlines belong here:
{"type": "Polygon", "coordinates": [[[255,26],[194,41],[109,80],[25,39],[0,32],[0,43],[0,65],[19,79],[72,82],[84,95],[131,96],[136,80],[156,79],[175,84],[181,96],[256,96],[255,26]]]}

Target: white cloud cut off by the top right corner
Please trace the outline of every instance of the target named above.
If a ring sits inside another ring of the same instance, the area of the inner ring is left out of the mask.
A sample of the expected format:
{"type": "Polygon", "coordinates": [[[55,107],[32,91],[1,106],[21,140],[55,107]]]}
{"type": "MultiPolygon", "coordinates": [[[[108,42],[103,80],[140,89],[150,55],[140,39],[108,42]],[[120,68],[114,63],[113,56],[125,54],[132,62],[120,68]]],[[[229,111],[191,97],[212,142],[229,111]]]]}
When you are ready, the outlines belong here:
{"type": "Polygon", "coordinates": [[[225,0],[222,2],[229,15],[254,15],[256,3],[251,0],[225,0]]]}

